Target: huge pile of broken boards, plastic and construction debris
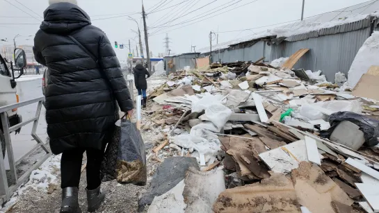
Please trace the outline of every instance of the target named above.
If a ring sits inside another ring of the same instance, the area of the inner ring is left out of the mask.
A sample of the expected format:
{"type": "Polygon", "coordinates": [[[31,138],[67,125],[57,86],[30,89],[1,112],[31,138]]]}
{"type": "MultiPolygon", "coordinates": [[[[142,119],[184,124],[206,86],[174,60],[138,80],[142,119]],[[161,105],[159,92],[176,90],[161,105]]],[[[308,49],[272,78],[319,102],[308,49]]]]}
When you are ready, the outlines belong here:
{"type": "Polygon", "coordinates": [[[379,105],[321,71],[292,69],[307,51],[282,67],[215,63],[170,74],[145,111],[166,135],[148,155],[163,163],[140,208],[379,212],[379,105]]]}

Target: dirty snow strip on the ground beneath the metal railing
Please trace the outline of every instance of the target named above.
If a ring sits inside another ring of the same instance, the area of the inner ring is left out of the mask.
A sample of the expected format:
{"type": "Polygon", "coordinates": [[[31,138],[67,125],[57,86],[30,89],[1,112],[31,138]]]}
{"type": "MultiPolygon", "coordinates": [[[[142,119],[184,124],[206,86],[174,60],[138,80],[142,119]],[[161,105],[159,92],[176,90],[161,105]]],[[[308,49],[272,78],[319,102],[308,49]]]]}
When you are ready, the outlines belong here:
{"type": "Polygon", "coordinates": [[[13,193],[10,201],[6,203],[1,212],[7,212],[8,208],[12,207],[19,196],[22,196],[29,189],[34,189],[35,191],[48,191],[49,188],[56,188],[54,185],[58,184],[58,172],[61,167],[61,157],[62,155],[54,155],[49,157],[38,169],[31,172],[29,177],[29,182],[25,185],[20,186],[15,193],[13,193]]]}

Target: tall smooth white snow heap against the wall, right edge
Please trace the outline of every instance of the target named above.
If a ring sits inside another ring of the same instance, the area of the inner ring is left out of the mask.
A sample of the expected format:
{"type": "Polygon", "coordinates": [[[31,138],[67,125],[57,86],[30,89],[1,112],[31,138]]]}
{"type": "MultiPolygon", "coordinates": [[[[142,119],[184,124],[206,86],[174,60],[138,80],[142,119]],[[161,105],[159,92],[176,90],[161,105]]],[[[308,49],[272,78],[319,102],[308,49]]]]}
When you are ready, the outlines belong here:
{"type": "Polygon", "coordinates": [[[374,31],[371,37],[358,51],[353,64],[348,71],[348,81],[344,87],[354,88],[363,74],[369,71],[371,66],[379,66],[379,31],[374,31]]]}

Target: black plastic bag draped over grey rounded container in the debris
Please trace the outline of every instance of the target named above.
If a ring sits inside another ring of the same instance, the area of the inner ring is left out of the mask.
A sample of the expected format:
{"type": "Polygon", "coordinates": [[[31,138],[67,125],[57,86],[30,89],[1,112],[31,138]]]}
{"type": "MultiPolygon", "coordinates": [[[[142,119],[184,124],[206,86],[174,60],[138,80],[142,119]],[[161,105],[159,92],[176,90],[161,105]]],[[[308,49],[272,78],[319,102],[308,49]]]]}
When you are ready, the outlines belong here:
{"type": "Polygon", "coordinates": [[[330,128],[322,131],[320,136],[329,138],[334,128],[336,128],[341,121],[350,121],[360,127],[360,130],[364,134],[365,146],[376,146],[379,143],[379,121],[354,112],[336,112],[330,114],[330,128]]]}

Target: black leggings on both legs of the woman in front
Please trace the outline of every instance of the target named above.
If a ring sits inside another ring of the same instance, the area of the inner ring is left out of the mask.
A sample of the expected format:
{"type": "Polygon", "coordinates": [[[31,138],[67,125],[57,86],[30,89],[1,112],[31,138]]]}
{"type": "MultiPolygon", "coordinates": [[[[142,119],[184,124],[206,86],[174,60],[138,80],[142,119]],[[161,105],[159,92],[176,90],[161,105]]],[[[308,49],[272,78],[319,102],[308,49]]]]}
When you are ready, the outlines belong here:
{"type": "Polygon", "coordinates": [[[104,151],[97,149],[76,148],[72,151],[66,151],[62,154],[61,159],[61,187],[79,187],[81,176],[81,161],[83,153],[87,153],[87,189],[97,189],[100,186],[100,166],[102,164],[104,151]]]}

